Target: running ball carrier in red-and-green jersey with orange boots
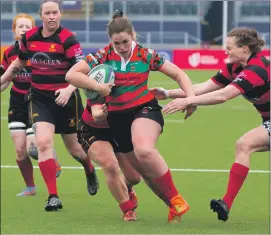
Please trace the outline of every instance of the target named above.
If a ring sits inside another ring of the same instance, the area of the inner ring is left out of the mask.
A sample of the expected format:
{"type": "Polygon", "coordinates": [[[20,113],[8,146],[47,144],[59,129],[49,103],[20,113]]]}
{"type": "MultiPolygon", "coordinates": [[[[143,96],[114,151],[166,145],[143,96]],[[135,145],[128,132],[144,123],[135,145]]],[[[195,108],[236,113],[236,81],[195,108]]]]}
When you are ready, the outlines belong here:
{"type": "MultiPolygon", "coordinates": [[[[106,101],[108,123],[119,151],[151,183],[152,189],[156,189],[153,191],[169,202],[169,222],[180,220],[189,205],[178,193],[165,160],[155,149],[164,120],[161,107],[147,89],[147,81],[149,71],[160,71],[177,81],[188,96],[194,96],[191,82],[176,65],[135,41],[136,34],[129,19],[119,15],[113,17],[107,29],[110,45],[74,65],[66,80],[73,80],[77,87],[95,88],[93,79],[87,77],[88,72],[98,64],[113,67],[115,86],[106,101]]],[[[189,107],[187,116],[194,110],[189,107]]]]}

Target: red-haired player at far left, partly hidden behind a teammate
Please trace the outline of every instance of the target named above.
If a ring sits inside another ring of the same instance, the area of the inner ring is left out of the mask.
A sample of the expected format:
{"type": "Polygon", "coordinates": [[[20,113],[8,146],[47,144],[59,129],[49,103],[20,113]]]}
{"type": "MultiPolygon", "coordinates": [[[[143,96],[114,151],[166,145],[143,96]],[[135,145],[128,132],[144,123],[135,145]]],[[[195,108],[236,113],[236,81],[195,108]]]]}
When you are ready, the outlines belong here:
{"type": "MultiPolygon", "coordinates": [[[[14,61],[19,54],[19,42],[22,34],[35,27],[34,19],[28,14],[18,14],[14,17],[12,30],[15,35],[15,44],[4,51],[1,63],[1,73],[3,74],[8,66],[14,61]]],[[[16,151],[16,162],[24,178],[26,189],[17,196],[33,196],[36,195],[36,187],[33,176],[33,166],[29,157],[38,159],[38,151],[35,143],[33,129],[29,124],[28,107],[26,102],[26,94],[31,85],[31,69],[26,66],[16,76],[14,76],[13,85],[10,90],[9,111],[8,111],[8,127],[16,151]]],[[[4,91],[10,82],[6,82],[1,86],[4,91]]],[[[54,151],[55,154],[55,151],[54,151]]],[[[56,156],[56,155],[55,155],[56,156]]],[[[61,167],[55,158],[57,172],[56,177],[60,175],[61,167]]]]}

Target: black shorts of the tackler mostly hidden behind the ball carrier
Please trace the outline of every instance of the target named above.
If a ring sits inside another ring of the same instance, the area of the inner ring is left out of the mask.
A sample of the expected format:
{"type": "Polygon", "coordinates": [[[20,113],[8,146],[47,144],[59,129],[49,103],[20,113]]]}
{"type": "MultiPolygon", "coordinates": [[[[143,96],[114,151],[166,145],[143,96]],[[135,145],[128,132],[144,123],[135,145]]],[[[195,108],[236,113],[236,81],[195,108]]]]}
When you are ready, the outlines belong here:
{"type": "Polygon", "coordinates": [[[114,152],[119,152],[118,144],[113,138],[110,128],[94,128],[80,120],[78,124],[77,139],[86,154],[88,153],[90,146],[96,141],[108,141],[112,145],[114,152]]]}

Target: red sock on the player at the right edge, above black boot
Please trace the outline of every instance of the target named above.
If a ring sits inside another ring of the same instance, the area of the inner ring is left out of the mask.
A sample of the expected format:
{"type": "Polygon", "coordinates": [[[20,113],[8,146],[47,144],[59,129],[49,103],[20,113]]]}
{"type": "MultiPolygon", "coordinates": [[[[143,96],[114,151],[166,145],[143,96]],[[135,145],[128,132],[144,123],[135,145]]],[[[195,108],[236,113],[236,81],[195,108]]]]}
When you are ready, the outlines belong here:
{"type": "Polygon", "coordinates": [[[248,171],[249,171],[248,167],[241,165],[239,163],[234,163],[232,165],[227,192],[223,198],[223,200],[228,205],[229,209],[231,208],[235,197],[237,196],[239,190],[241,189],[247,177],[248,171]]]}

